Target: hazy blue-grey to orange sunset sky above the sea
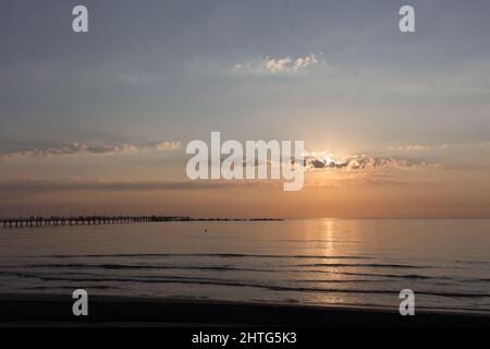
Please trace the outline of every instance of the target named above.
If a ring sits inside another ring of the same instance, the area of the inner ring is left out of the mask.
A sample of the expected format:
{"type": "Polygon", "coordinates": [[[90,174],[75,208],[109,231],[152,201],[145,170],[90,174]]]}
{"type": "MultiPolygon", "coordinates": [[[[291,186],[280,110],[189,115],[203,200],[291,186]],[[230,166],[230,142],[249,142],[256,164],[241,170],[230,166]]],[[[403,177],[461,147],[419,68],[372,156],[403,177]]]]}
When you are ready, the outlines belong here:
{"type": "Polygon", "coordinates": [[[0,216],[490,217],[489,32],[488,1],[2,1],[0,216]],[[191,181],[211,131],[316,165],[191,181]]]}

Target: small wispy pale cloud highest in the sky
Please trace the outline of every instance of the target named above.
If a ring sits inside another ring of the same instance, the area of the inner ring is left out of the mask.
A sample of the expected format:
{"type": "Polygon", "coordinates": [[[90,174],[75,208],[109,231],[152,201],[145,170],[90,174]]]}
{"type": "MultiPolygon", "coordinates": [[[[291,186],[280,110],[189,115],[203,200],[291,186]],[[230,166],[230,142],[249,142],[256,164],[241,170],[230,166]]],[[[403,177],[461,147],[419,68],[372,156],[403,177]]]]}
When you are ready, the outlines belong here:
{"type": "Polygon", "coordinates": [[[318,55],[310,53],[309,56],[298,58],[284,57],[274,59],[267,56],[266,58],[256,61],[236,64],[234,70],[254,74],[293,73],[311,69],[313,67],[322,63],[321,52],[318,55]]]}

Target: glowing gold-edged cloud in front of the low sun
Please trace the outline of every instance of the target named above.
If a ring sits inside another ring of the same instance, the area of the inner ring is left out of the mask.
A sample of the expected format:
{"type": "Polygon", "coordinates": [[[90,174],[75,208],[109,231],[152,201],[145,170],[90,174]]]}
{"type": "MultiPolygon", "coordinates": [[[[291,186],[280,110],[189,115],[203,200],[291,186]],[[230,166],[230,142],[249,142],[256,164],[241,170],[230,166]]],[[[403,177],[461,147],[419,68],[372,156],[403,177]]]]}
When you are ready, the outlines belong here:
{"type": "Polygon", "coordinates": [[[369,171],[388,168],[394,169],[417,169],[417,168],[443,168],[443,165],[420,159],[408,159],[401,157],[368,157],[366,155],[350,155],[335,158],[324,153],[306,153],[305,170],[334,170],[345,171],[369,171]]]}

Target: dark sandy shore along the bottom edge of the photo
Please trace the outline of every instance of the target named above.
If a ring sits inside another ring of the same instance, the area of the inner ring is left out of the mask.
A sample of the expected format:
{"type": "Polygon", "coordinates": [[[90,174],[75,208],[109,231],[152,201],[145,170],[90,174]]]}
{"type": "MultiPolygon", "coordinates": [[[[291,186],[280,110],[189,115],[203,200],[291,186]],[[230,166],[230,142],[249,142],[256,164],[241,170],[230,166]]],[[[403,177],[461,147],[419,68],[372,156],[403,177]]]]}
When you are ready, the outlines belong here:
{"type": "Polygon", "coordinates": [[[0,294],[0,326],[488,326],[490,314],[90,296],[88,316],[70,296],[0,294]]]}

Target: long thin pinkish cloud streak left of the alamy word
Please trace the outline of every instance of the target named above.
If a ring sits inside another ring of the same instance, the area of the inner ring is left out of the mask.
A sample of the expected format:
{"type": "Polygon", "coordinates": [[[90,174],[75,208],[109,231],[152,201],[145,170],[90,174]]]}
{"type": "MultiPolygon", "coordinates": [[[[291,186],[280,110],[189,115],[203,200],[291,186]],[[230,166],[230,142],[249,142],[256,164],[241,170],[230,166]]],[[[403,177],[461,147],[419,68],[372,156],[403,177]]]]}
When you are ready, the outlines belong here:
{"type": "Polygon", "coordinates": [[[181,147],[181,143],[160,142],[151,145],[133,145],[127,143],[87,145],[72,143],[60,147],[35,148],[23,152],[0,153],[0,160],[28,159],[40,157],[62,157],[62,156],[90,156],[90,155],[130,155],[144,149],[154,149],[158,152],[174,151],[181,147]]]}

